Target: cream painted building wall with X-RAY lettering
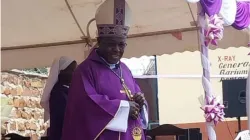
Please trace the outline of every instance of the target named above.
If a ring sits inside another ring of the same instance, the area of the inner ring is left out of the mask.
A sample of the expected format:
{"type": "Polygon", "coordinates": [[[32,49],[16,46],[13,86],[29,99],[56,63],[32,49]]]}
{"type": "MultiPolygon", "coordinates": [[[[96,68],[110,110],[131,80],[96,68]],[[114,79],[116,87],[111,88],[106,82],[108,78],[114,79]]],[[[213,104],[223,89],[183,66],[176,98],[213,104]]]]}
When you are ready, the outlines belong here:
{"type": "MultiPolygon", "coordinates": [[[[247,54],[249,51],[248,48],[243,47],[211,50],[209,52],[212,63],[211,74],[218,75],[221,70],[224,69],[222,68],[223,64],[233,63],[237,63],[238,66],[225,68],[225,70],[248,72],[250,56],[247,54]],[[223,58],[227,57],[228,60],[228,56],[231,56],[232,61],[226,61],[225,59],[218,62],[219,56],[223,58]],[[248,63],[248,65],[245,66],[243,63],[248,63]]],[[[198,51],[158,56],[157,65],[158,75],[202,74],[200,52],[198,51]]],[[[222,98],[222,83],[219,81],[220,78],[211,79],[215,95],[222,98]]],[[[158,86],[159,117],[161,124],[204,122],[203,112],[200,109],[201,105],[198,101],[198,97],[204,94],[201,78],[159,78],[158,86]]]]}

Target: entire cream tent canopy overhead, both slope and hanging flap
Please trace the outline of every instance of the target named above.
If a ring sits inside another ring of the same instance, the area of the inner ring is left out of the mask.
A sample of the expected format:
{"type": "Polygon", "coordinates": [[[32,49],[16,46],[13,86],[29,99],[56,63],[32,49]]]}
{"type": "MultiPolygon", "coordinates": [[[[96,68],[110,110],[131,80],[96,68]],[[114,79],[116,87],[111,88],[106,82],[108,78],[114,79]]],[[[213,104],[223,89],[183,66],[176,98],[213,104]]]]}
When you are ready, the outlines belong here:
{"type": "MultiPolygon", "coordinates": [[[[125,57],[198,50],[196,4],[185,0],[127,0],[133,12],[125,57]],[[172,33],[182,32],[182,40],[172,33]]],[[[102,0],[69,0],[83,31],[102,0]]],[[[96,29],[91,25],[91,35],[96,29]]],[[[246,32],[227,27],[220,48],[246,46],[246,32]]],[[[83,36],[63,0],[2,0],[2,70],[49,66],[66,55],[82,61],[83,36]]]]}

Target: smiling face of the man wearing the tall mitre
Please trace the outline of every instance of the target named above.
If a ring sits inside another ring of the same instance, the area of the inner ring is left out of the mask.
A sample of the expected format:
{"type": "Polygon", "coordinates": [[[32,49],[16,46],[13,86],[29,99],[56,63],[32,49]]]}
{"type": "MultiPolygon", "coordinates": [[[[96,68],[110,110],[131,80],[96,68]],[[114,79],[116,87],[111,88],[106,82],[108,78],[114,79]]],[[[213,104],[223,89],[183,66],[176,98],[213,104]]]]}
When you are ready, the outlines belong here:
{"type": "Polygon", "coordinates": [[[99,40],[99,51],[110,64],[120,61],[126,46],[126,38],[106,37],[99,40]]]}

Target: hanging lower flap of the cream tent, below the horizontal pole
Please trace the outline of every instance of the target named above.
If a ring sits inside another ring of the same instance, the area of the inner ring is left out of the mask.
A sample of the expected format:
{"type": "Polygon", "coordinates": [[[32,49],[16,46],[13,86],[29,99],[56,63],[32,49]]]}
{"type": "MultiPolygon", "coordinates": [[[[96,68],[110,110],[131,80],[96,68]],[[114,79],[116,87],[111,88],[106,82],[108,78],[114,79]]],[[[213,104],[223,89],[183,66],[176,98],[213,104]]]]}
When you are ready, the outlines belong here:
{"type": "MultiPolygon", "coordinates": [[[[240,47],[248,43],[247,32],[225,28],[225,35],[219,42],[219,48],[240,47]],[[237,37],[237,39],[235,39],[237,37]]],[[[197,31],[182,33],[182,40],[177,40],[171,34],[158,34],[128,39],[124,57],[140,57],[143,55],[162,55],[175,52],[197,51],[197,31]]],[[[2,70],[12,68],[34,68],[50,66],[53,59],[59,56],[69,56],[82,62],[85,58],[86,44],[71,44],[30,49],[16,49],[2,51],[2,70]]],[[[215,47],[210,47],[215,49],[215,47]]],[[[247,55],[247,52],[246,52],[247,55]]]]}

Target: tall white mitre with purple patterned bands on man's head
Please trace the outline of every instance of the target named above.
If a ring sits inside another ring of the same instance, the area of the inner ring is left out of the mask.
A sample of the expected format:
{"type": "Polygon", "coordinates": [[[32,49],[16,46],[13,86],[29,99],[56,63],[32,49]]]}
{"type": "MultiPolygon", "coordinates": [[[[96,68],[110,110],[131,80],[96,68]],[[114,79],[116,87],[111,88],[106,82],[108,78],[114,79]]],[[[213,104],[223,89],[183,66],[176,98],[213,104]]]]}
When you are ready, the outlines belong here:
{"type": "Polygon", "coordinates": [[[127,37],[131,13],[125,0],[106,0],[95,15],[98,37],[127,37]]]}

